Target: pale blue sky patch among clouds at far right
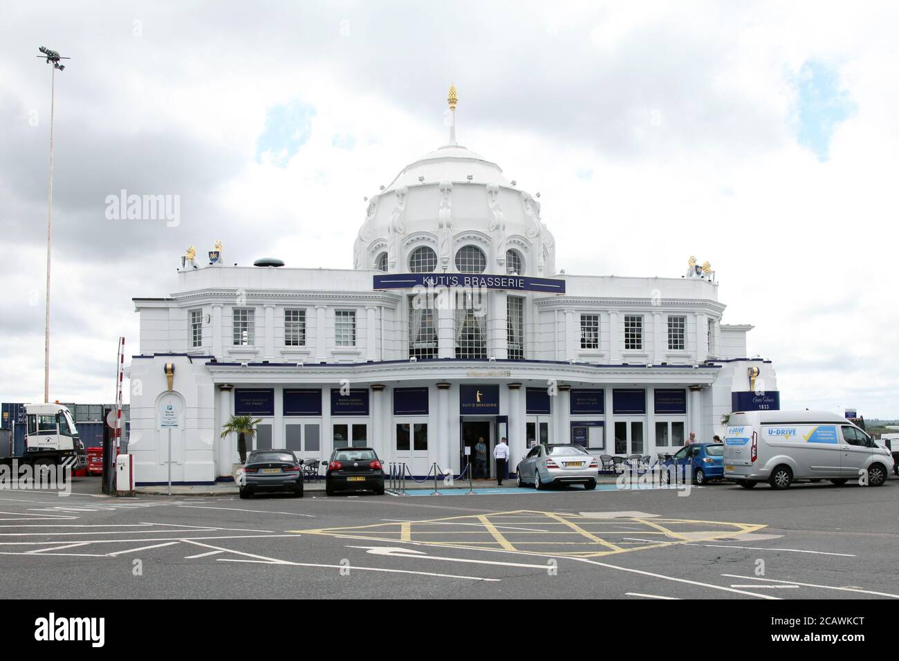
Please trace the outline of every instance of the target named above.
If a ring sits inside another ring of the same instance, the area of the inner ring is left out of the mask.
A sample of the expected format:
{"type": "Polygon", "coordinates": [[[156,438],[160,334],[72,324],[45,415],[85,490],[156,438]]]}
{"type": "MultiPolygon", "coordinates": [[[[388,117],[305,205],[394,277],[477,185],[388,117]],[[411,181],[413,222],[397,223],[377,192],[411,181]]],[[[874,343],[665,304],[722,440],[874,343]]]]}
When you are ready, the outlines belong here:
{"type": "Polygon", "coordinates": [[[795,86],[797,141],[811,149],[819,161],[826,161],[833,131],[855,112],[855,104],[841,89],[836,67],[823,62],[807,61],[799,70],[795,86]]]}

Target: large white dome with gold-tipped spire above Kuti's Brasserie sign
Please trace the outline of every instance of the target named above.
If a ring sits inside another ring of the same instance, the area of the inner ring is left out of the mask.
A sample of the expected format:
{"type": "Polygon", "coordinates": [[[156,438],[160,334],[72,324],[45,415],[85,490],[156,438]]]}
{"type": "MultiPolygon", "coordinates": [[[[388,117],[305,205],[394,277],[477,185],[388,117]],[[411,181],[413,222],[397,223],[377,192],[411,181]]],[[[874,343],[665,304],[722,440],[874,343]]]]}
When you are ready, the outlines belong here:
{"type": "Polygon", "coordinates": [[[555,241],[540,220],[539,201],[507,180],[499,165],[456,144],[454,125],[448,145],[406,165],[369,200],[353,267],[410,272],[410,257],[423,246],[433,251],[426,262],[436,263],[437,272],[457,272],[458,251],[476,246],[485,273],[506,274],[510,250],[519,275],[555,273],[555,241]]]}

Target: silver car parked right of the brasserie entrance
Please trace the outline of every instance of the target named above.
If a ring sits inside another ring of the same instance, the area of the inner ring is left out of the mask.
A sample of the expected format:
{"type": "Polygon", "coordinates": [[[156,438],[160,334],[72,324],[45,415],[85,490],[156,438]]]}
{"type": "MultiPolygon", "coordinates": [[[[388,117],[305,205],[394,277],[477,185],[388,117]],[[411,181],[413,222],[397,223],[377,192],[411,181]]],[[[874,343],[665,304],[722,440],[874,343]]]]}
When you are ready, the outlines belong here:
{"type": "Polygon", "coordinates": [[[518,465],[518,486],[538,489],[554,484],[583,484],[596,488],[600,464],[580,445],[537,445],[518,465]]]}

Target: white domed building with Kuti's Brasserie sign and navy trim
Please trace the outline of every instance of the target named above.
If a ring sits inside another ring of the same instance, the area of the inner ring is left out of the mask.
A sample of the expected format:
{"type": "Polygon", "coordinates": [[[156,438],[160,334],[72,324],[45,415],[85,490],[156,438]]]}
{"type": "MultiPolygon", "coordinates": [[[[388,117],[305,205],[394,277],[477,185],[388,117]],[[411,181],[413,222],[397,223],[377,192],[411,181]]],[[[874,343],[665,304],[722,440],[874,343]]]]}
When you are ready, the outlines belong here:
{"type": "Polygon", "coordinates": [[[556,272],[539,201],[454,126],[370,199],[352,270],[217,255],[182,260],[172,296],[134,299],[138,483],[165,482],[169,433],[174,482],[231,478],[233,414],[262,418],[254,447],[327,459],[369,445],[422,476],[432,462],[458,475],[482,436],[508,437],[512,470],[533,442],[654,456],[690,431],[711,440],[732,409],[779,406],[770,362],[746,357],[752,326],[722,324],[708,268],[556,272]]]}

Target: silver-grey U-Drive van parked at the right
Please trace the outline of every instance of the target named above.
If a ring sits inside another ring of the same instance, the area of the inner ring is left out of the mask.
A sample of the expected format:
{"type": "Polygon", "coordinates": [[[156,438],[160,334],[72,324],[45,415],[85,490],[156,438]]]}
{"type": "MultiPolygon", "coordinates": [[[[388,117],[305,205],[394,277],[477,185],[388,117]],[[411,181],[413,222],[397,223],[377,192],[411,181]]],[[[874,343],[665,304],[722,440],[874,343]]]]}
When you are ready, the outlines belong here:
{"type": "Polygon", "coordinates": [[[846,418],[826,411],[732,413],[725,433],[725,478],[785,489],[797,479],[842,485],[867,477],[879,487],[893,457],[846,418]]]}

